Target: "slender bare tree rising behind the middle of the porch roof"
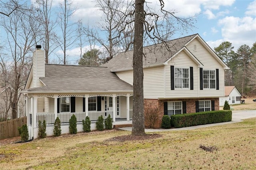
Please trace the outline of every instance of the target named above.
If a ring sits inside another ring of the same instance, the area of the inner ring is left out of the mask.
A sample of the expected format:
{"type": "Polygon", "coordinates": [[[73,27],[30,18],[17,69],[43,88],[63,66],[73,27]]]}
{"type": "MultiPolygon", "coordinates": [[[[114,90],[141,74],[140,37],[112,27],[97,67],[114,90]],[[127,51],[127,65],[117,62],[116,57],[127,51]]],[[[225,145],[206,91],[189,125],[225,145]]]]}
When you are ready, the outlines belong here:
{"type": "Polygon", "coordinates": [[[71,21],[71,16],[76,12],[76,8],[71,0],[64,0],[60,2],[60,13],[58,13],[59,26],[62,31],[62,38],[58,41],[63,53],[63,64],[67,62],[66,51],[70,49],[74,42],[77,40],[76,32],[74,31],[74,27],[76,26],[76,22],[71,21]]]}

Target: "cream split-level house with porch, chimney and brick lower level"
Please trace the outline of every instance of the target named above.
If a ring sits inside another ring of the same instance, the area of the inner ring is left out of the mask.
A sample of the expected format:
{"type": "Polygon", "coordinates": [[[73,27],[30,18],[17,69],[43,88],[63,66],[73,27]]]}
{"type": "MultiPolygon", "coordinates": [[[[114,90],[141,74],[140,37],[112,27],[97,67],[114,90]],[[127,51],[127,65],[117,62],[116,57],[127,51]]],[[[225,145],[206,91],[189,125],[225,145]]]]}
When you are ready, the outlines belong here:
{"type": "MultiPolygon", "coordinates": [[[[224,70],[228,66],[209,45],[194,34],[143,48],[144,108],[157,108],[163,115],[219,109],[224,93],[224,70]]],[[[30,138],[38,135],[38,121],[46,120],[52,135],[56,117],[62,133],[75,114],[78,131],[86,116],[92,129],[98,116],[110,115],[113,125],[132,123],[133,51],[119,53],[102,67],[44,63],[44,51],[33,53],[33,65],[25,89],[30,138]]]]}

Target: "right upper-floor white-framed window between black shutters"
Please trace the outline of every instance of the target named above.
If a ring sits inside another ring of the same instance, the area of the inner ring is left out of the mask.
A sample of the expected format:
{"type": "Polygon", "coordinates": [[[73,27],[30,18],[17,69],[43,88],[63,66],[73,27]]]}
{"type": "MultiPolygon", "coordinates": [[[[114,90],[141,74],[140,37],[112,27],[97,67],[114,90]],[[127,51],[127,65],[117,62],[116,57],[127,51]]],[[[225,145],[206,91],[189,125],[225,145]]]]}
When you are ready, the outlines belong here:
{"type": "Polygon", "coordinates": [[[216,88],[215,70],[204,70],[203,71],[203,83],[204,83],[204,89],[215,89],[216,88]]]}

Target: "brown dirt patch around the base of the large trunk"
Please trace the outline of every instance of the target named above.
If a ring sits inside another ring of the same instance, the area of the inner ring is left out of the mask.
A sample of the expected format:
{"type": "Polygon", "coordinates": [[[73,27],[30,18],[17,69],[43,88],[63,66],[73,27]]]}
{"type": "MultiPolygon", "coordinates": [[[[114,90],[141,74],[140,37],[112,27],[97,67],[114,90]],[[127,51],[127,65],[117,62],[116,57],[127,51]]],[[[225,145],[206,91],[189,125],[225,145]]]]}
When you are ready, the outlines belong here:
{"type": "Polygon", "coordinates": [[[123,136],[116,136],[114,138],[107,139],[106,141],[130,141],[130,140],[149,140],[162,137],[161,134],[145,134],[145,135],[123,135],[123,136]]]}

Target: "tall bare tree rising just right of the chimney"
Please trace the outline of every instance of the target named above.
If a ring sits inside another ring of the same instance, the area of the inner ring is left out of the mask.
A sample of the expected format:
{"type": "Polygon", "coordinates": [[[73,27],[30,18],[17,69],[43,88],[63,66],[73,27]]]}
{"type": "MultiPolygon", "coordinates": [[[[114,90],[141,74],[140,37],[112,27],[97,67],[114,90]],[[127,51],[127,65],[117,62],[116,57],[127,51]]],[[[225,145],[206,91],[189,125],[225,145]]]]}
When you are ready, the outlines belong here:
{"type": "Polygon", "coordinates": [[[59,47],[57,36],[54,29],[56,28],[56,18],[52,16],[52,0],[37,0],[39,4],[39,22],[42,26],[42,46],[45,51],[45,63],[49,63],[50,54],[59,47]]]}

